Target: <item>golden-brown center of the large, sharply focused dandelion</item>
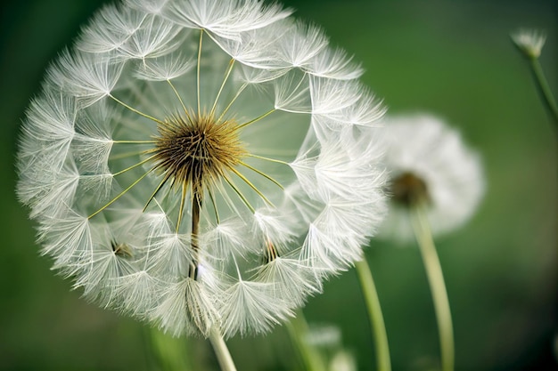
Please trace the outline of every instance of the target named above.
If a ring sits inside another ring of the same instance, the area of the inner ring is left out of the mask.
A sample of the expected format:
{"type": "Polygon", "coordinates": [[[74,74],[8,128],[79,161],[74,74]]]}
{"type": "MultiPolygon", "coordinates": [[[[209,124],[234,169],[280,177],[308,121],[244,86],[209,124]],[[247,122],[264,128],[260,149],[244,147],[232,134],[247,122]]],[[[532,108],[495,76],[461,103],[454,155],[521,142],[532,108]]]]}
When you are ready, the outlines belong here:
{"type": "Polygon", "coordinates": [[[234,120],[211,116],[168,117],[155,137],[156,168],[173,185],[190,186],[201,197],[246,155],[237,129],[234,120]]]}

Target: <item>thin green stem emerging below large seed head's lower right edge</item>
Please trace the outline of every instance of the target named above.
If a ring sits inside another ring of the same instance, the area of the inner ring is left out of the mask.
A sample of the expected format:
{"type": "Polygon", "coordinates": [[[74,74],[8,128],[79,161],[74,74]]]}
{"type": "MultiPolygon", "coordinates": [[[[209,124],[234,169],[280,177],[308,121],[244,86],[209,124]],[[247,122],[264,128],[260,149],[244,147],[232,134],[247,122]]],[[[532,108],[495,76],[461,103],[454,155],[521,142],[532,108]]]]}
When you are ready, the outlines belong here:
{"type": "Polygon", "coordinates": [[[376,347],[376,363],[378,371],[390,371],[390,344],[388,343],[388,335],[386,326],[383,321],[382,306],[378,298],[378,292],[373,281],[370,265],[364,257],[361,261],[355,263],[358,279],[362,292],[365,296],[366,310],[368,311],[368,319],[373,330],[374,344],[376,347]]]}

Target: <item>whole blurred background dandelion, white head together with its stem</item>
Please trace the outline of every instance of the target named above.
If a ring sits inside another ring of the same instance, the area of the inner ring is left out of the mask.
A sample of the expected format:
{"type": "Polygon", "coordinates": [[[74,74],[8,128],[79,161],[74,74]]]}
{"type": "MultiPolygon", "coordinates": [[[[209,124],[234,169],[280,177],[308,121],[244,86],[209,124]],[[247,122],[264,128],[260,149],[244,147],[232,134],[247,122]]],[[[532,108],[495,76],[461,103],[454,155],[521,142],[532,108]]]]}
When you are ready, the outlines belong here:
{"type": "Polygon", "coordinates": [[[390,211],[379,237],[416,238],[439,326],[441,369],[455,364],[453,321],[433,236],[455,230],[484,194],[480,157],[455,130],[425,114],[385,117],[390,211]]]}

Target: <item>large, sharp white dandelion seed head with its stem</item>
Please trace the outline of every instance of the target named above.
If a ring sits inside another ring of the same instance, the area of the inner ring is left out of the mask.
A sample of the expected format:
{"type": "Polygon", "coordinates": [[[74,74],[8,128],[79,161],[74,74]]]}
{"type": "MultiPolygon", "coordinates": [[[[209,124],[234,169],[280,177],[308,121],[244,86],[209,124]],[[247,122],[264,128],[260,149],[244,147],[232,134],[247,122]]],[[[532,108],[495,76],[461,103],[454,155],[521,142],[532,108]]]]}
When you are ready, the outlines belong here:
{"type": "Polygon", "coordinates": [[[21,135],[18,194],[56,269],[103,307],[209,337],[226,369],[221,336],[292,316],[382,215],[361,138],[382,106],[290,15],[109,4],[49,67],[21,135]]]}

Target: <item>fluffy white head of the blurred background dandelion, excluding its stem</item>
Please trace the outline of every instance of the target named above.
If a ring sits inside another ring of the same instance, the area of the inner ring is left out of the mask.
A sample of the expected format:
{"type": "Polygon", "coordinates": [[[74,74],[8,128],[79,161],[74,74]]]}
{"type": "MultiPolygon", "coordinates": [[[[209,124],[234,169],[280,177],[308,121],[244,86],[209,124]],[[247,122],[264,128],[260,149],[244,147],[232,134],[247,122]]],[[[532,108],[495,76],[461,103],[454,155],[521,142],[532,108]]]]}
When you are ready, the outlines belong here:
{"type": "Polygon", "coordinates": [[[408,211],[416,204],[424,206],[434,234],[466,222],[484,193],[480,157],[437,117],[384,117],[384,123],[390,211],[379,236],[413,239],[408,211]]]}

